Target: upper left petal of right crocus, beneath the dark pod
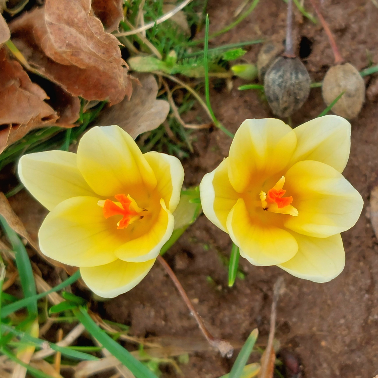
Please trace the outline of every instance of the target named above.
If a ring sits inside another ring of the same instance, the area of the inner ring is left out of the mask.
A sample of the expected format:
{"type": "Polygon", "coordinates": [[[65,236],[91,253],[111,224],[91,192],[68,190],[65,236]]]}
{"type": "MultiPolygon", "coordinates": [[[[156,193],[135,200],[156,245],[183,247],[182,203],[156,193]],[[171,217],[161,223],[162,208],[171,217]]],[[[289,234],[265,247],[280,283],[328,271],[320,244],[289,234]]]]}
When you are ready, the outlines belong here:
{"type": "Polygon", "coordinates": [[[242,193],[251,182],[287,166],[297,139],[290,126],[274,118],[246,119],[232,140],[228,177],[242,193]]]}

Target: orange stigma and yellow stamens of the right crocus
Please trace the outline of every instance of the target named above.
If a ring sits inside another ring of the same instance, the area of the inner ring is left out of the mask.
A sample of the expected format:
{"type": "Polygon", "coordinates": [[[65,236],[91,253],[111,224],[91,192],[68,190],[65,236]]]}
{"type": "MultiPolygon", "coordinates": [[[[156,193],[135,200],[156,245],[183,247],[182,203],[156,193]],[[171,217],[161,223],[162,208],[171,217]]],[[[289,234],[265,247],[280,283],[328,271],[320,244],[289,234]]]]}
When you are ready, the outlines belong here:
{"type": "Polygon", "coordinates": [[[272,189],[268,190],[268,193],[263,191],[260,192],[261,206],[264,210],[280,213],[280,214],[290,214],[296,217],[298,211],[296,208],[291,206],[293,202],[293,197],[283,197],[286,193],[282,189],[283,184],[285,184],[285,176],[282,176],[273,186],[272,189]]]}

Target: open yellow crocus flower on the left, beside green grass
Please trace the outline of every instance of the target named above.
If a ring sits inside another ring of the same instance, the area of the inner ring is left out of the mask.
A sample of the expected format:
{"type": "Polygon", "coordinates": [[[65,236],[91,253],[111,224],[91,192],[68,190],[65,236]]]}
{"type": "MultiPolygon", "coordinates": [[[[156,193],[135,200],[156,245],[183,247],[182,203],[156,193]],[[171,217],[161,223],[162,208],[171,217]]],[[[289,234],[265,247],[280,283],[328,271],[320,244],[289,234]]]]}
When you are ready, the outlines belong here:
{"type": "Polygon", "coordinates": [[[39,230],[43,254],[79,266],[102,297],[137,285],[174,229],[184,170],[180,160],[142,154],[116,125],[93,127],[77,153],[22,156],[19,177],[48,210],[39,230]]]}

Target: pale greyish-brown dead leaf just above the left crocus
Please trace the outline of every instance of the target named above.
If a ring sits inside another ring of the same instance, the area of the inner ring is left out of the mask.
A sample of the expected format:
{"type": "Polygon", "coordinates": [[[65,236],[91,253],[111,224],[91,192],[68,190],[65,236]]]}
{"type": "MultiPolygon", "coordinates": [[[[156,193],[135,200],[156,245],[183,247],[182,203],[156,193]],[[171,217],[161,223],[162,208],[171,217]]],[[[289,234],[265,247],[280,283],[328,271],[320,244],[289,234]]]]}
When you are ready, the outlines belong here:
{"type": "Polygon", "coordinates": [[[154,130],[161,125],[169,113],[169,104],[157,100],[158,84],[153,75],[137,76],[140,84],[133,83],[130,101],[122,102],[105,109],[96,121],[97,125],[118,125],[134,139],[141,133],[154,130]]]}

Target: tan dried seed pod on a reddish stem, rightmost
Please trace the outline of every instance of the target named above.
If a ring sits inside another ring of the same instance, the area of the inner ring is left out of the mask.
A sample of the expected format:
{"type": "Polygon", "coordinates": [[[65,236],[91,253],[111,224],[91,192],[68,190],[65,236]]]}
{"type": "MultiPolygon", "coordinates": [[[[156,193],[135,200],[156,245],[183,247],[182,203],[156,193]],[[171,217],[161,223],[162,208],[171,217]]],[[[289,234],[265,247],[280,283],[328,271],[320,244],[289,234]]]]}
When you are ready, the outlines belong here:
{"type": "Polygon", "coordinates": [[[365,101],[365,83],[350,63],[331,67],[323,79],[322,95],[327,105],[342,92],[344,95],[333,105],[332,112],[347,119],[355,118],[365,101]]]}

